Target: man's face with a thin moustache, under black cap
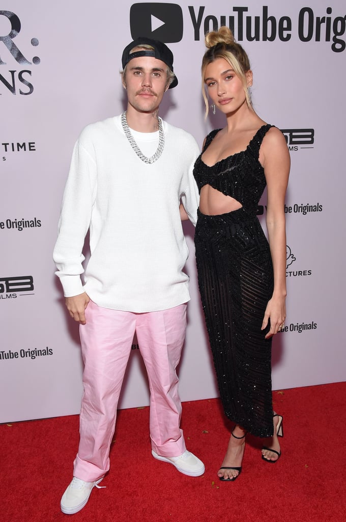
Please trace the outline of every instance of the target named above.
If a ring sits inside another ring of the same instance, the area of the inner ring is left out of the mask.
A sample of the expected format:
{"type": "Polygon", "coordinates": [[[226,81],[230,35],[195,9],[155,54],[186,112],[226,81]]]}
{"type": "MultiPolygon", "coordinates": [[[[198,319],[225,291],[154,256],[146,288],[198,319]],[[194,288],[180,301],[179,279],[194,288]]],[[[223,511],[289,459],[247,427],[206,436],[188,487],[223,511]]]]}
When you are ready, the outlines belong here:
{"type": "Polygon", "coordinates": [[[122,83],[128,102],[136,111],[151,113],[158,109],[168,89],[166,71],[166,64],[152,56],[138,56],[129,61],[122,83]]]}

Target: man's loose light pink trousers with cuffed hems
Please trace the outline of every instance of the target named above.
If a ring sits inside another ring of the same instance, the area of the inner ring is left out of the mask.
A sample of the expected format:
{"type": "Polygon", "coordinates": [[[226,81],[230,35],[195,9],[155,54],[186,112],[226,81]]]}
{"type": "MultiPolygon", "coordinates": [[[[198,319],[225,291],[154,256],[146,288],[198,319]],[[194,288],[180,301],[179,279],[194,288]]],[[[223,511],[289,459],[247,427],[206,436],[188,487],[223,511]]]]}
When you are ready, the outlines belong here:
{"type": "Polygon", "coordinates": [[[109,447],[134,332],[149,378],[152,448],[164,457],[185,451],[176,367],[186,332],[186,309],[181,304],[159,312],[132,313],[89,302],[87,324],[80,327],[84,393],[75,477],[92,482],[109,469],[109,447]]]}

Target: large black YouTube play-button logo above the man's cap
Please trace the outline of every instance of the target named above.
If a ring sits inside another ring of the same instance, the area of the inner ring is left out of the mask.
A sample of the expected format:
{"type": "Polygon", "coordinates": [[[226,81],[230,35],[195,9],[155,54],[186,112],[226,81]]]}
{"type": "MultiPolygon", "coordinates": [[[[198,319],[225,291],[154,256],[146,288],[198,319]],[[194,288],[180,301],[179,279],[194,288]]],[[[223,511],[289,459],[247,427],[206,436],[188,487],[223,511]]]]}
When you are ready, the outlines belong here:
{"type": "Polygon", "coordinates": [[[140,36],[165,43],[180,42],[183,34],[182,10],[178,4],[133,4],[130,9],[133,40],[140,36]]]}

